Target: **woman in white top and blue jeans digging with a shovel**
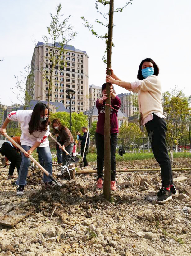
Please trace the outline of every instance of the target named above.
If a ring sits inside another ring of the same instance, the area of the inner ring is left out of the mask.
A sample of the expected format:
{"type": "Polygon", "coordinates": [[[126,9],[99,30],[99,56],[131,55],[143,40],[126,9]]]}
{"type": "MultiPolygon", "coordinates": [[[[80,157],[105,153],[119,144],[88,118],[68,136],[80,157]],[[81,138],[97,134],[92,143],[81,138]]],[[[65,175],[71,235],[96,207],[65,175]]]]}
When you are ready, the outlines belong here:
{"type": "MultiPolygon", "coordinates": [[[[52,175],[52,156],[49,148],[48,135],[49,130],[49,109],[44,103],[37,103],[33,110],[18,110],[8,114],[2,127],[0,134],[6,132],[7,124],[10,121],[18,121],[22,131],[20,142],[27,153],[22,152],[22,162],[20,165],[18,179],[16,181],[17,195],[24,194],[24,185],[27,184],[26,178],[30,165],[29,155],[37,148],[39,157],[44,160],[44,168],[52,175]]],[[[45,186],[51,184],[52,180],[44,175],[43,182],[45,186]]]]}

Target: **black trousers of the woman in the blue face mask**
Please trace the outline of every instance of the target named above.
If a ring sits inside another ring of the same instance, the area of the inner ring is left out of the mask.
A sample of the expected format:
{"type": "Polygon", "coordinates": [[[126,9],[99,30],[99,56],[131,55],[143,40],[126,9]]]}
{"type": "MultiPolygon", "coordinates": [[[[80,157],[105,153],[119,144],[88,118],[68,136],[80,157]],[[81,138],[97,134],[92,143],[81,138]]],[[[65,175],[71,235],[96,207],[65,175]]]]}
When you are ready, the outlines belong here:
{"type": "Polygon", "coordinates": [[[161,167],[162,187],[168,187],[172,182],[171,160],[166,148],[166,121],[164,118],[156,116],[145,124],[151,142],[155,159],[161,167]]]}

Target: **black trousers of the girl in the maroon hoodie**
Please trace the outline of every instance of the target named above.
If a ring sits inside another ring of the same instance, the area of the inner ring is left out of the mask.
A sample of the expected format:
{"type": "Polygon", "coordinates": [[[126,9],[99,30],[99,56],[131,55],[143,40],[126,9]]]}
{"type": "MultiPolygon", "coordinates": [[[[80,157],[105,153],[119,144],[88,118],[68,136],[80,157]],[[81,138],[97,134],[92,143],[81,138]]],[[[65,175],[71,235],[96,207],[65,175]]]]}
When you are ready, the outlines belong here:
{"type": "MultiPolygon", "coordinates": [[[[103,178],[104,167],[104,135],[95,133],[96,149],[97,149],[97,171],[98,179],[103,178]]],[[[117,133],[112,133],[110,137],[111,146],[111,181],[116,178],[116,147],[117,147],[117,133]]]]}

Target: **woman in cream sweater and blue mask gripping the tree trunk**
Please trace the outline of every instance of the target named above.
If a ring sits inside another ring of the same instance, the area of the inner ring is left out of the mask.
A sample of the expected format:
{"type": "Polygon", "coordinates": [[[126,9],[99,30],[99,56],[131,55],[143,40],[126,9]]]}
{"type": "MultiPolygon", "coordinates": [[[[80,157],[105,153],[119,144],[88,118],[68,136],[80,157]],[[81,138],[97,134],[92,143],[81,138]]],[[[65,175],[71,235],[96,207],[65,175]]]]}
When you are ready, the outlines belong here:
{"type": "Polygon", "coordinates": [[[138,80],[125,82],[120,80],[111,70],[106,82],[116,84],[129,91],[138,93],[139,113],[142,125],[145,125],[152,145],[155,159],[160,164],[162,187],[157,193],[157,201],[165,203],[176,196],[172,181],[172,167],[166,148],[166,121],[162,108],[162,88],[158,79],[159,68],[152,59],[142,60],[139,65],[138,80]]]}

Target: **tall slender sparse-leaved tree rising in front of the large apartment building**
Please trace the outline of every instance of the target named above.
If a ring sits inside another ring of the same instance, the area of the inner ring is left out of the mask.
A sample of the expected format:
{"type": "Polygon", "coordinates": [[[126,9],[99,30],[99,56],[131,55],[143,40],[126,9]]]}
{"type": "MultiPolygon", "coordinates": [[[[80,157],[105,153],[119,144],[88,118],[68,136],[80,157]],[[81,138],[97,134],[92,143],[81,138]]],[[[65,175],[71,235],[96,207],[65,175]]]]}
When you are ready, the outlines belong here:
{"type": "MultiPolygon", "coordinates": [[[[48,41],[52,42],[52,51],[48,52],[48,60],[49,60],[49,68],[48,75],[44,72],[44,66],[46,67],[46,59],[47,57],[43,57],[40,55],[39,48],[37,47],[37,51],[39,56],[41,57],[41,67],[38,67],[39,72],[43,76],[43,79],[48,81],[48,100],[47,105],[49,106],[50,102],[50,94],[52,92],[52,82],[55,77],[54,70],[64,70],[64,66],[66,66],[66,60],[61,59],[61,56],[65,56],[64,48],[66,45],[74,39],[78,32],[74,32],[71,24],[68,24],[68,20],[71,15],[69,15],[66,19],[60,21],[60,18],[63,16],[60,14],[61,11],[61,3],[57,5],[56,14],[53,16],[50,14],[52,20],[50,25],[47,27],[48,36],[42,36],[45,44],[48,44],[48,41]]],[[[47,93],[47,91],[46,91],[47,93]]]]}

